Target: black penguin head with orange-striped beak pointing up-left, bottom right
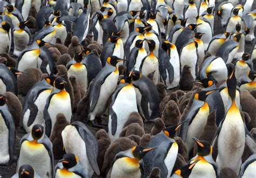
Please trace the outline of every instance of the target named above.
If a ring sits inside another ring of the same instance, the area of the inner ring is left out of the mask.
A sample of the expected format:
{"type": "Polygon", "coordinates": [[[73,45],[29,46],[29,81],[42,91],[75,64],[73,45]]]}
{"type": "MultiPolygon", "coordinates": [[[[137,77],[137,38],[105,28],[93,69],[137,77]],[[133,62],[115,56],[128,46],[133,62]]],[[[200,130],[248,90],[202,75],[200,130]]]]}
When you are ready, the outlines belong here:
{"type": "Polygon", "coordinates": [[[197,154],[200,156],[207,156],[209,154],[212,154],[212,146],[208,141],[205,140],[199,140],[197,138],[192,138],[194,141],[196,141],[197,144],[197,154]]]}

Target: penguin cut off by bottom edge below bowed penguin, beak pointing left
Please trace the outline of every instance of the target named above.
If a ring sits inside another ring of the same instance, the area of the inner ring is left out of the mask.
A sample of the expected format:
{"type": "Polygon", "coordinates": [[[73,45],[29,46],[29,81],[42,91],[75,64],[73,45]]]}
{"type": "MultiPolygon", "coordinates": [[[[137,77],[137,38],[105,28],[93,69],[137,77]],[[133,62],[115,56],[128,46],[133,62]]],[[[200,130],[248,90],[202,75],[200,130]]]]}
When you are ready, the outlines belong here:
{"type": "Polygon", "coordinates": [[[77,155],[72,153],[64,154],[63,159],[55,166],[55,177],[64,176],[89,178],[87,168],[82,165],[77,155]]]}

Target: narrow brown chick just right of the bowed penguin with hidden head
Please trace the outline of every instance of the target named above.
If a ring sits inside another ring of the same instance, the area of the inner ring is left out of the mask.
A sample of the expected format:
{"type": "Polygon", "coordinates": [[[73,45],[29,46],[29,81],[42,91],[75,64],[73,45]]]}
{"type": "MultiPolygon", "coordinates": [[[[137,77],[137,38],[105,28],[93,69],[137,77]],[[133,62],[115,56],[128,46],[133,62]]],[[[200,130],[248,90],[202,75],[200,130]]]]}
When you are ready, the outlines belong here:
{"type": "Polygon", "coordinates": [[[109,134],[107,134],[107,132],[104,129],[100,129],[96,133],[96,138],[98,141],[98,149],[99,149],[97,163],[98,163],[99,169],[102,169],[102,165],[104,162],[104,156],[105,156],[107,148],[109,148],[109,146],[111,144],[111,140],[109,138],[109,134]]]}

